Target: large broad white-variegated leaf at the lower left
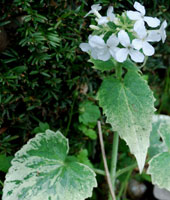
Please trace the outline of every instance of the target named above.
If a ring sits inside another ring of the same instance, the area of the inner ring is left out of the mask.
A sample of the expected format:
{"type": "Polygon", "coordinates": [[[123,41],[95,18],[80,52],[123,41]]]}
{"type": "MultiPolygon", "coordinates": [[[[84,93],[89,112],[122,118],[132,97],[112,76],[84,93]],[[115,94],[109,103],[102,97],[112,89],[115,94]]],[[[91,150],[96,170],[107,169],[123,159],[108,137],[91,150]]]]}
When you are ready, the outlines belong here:
{"type": "Polygon", "coordinates": [[[2,200],[84,200],[97,186],[95,173],[67,156],[68,140],[47,130],[15,154],[2,200]]]}

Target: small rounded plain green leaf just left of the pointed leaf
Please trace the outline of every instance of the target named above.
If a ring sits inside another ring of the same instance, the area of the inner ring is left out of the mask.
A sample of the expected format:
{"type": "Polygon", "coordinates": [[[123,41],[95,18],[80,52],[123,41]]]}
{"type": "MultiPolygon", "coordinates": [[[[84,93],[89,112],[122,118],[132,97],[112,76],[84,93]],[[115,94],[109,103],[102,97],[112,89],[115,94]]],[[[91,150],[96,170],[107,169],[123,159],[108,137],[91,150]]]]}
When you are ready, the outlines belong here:
{"type": "Polygon", "coordinates": [[[99,107],[91,101],[82,102],[79,106],[79,122],[84,125],[97,124],[100,117],[99,107]]]}

